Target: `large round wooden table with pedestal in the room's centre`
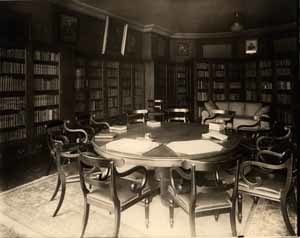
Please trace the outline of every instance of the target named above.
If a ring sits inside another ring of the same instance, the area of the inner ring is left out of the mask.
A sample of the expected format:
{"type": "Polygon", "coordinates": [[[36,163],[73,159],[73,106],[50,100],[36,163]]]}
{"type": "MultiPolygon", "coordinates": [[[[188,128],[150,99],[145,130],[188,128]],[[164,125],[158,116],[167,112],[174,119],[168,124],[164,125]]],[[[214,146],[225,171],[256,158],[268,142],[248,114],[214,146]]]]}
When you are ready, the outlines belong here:
{"type": "Polygon", "coordinates": [[[142,154],[121,153],[116,150],[106,149],[107,142],[92,140],[95,152],[107,159],[123,159],[128,165],[142,165],[155,168],[160,177],[161,196],[167,200],[167,187],[169,184],[169,168],[181,166],[185,160],[198,160],[203,162],[203,166],[210,163],[224,162],[224,160],[235,160],[235,153],[238,151],[241,137],[236,134],[228,134],[228,139],[224,142],[214,140],[223,146],[220,151],[213,151],[201,154],[178,154],[166,146],[173,141],[199,140],[202,133],[207,133],[208,127],[198,123],[162,123],[161,127],[150,128],[145,124],[133,124],[128,126],[126,133],[118,134],[115,140],[121,138],[141,138],[146,133],[151,133],[153,141],[161,143],[160,146],[142,154]]]}

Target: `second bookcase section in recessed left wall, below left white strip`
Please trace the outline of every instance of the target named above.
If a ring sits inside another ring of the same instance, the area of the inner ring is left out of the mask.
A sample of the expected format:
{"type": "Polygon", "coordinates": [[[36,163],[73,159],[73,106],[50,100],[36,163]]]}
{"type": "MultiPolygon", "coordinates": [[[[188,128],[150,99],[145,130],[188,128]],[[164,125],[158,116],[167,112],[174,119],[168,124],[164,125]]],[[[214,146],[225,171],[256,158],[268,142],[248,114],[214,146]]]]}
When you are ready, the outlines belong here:
{"type": "Polygon", "coordinates": [[[87,64],[89,87],[89,112],[97,119],[104,118],[104,81],[103,62],[91,60],[87,64]]]}

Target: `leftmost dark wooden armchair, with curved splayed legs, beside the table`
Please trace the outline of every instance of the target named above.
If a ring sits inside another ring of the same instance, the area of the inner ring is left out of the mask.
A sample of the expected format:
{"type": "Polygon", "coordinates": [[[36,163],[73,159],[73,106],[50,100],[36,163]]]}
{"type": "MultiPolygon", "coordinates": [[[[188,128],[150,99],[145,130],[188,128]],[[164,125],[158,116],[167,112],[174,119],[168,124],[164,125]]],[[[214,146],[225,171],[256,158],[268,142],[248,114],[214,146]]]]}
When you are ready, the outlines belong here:
{"type": "Polygon", "coordinates": [[[67,126],[67,124],[70,123],[69,121],[64,121],[62,123],[63,129],[68,132],[70,136],[67,136],[67,133],[63,132],[61,132],[61,134],[54,135],[49,128],[47,130],[48,146],[57,168],[57,184],[50,201],[55,199],[59,188],[61,187],[61,194],[57,207],[52,215],[53,217],[57,215],[63,204],[66,193],[66,184],[79,182],[78,169],[77,166],[74,166],[72,161],[78,159],[79,157],[78,149],[80,143],[88,142],[88,135],[84,130],[69,128],[67,126]]]}

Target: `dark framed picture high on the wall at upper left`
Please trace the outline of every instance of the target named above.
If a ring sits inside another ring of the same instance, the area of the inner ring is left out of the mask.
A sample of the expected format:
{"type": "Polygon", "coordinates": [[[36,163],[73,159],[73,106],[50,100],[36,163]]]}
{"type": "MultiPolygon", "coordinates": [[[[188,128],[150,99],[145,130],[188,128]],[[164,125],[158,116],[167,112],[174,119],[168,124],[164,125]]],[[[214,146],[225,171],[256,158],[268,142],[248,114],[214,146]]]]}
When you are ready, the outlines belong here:
{"type": "Polygon", "coordinates": [[[59,16],[59,36],[65,43],[76,43],[78,38],[78,18],[61,14],[59,16]]]}

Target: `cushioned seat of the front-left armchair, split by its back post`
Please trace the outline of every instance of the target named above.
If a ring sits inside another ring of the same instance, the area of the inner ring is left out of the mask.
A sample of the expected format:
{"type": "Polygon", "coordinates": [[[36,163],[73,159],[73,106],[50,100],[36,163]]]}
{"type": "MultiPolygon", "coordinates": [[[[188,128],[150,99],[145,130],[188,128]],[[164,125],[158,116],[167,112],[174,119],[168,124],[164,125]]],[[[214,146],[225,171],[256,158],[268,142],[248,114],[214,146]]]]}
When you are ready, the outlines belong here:
{"type": "MultiPolygon", "coordinates": [[[[101,186],[98,186],[91,192],[87,194],[87,200],[92,204],[103,204],[109,207],[113,207],[113,201],[110,194],[110,181],[103,182],[101,186]]],[[[128,201],[132,201],[139,198],[139,195],[130,190],[130,186],[133,184],[133,181],[128,179],[118,179],[117,181],[116,191],[120,200],[121,206],[128,203],[128,201]]],[[[145,195],[151,192],[152,188],[148,185],[142,190],[141,195],[145,195]]]]}

